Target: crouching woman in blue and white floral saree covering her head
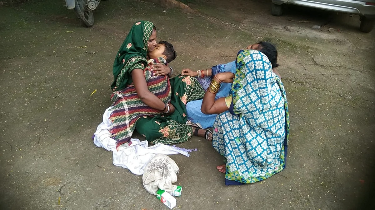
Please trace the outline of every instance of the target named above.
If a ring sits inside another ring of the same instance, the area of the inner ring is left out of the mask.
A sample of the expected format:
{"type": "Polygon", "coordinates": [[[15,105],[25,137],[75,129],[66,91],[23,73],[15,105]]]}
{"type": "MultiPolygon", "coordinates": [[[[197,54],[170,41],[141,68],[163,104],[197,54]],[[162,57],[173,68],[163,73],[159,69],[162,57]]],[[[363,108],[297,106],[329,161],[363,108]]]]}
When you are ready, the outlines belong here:
{"type": "Polygon", "coordinates": [[[240,50],[236,74],[215,75],[203,98],[205,114],[219,114],[214,122],[213,147],[226,159],[218,166],[226,185],[254,183],[285,167],[289,114],[285,89],[272,64],[257,50],[240,50]],[[220,84],[231,92],[215,100],[220,84]]]}

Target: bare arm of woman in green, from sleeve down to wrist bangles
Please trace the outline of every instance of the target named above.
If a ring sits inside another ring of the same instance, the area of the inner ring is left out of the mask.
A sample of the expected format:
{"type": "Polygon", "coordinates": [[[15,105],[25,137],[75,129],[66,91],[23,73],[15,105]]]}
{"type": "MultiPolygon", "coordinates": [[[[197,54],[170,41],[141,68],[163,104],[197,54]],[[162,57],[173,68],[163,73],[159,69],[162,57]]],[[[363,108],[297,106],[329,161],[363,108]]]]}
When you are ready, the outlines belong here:
{"type": "Polygon", "coordinates": [[[137,92],[138,97],[142,102],[150,106],[151,108],[163,111],[165,110],[165,104],[154,94],[152,94],[147,87],[146,78],[144,77],[143,70],[137,68],[132,71],[132,79],[137,92]]]}

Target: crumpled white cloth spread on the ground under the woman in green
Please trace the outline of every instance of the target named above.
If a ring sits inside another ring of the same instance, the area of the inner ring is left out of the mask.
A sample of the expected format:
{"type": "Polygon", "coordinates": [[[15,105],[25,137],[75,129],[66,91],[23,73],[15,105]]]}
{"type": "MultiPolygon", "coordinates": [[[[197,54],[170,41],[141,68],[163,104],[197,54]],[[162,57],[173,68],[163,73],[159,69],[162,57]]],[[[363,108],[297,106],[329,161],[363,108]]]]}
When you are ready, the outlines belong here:
{"type": "Polygon", "coordinates": [[[186,149],[167,146],[161,143],[148,146],[147,141],[139,141],[139,139],[131,139],[132,144],[130,146],[125,143],[116,150],[116,140],[111,138],[111,133],[109,131],[110,109],[111,107],[105,110],[103,122],[99,124],[94,133],[94,143],[98,147],[113,151],[113,164],[115,166],[121,166],[125,169],[129,169],[133,174],[142,175],[144,173],[144,168],[156,154],[182,154],[186,157],[190,156],[186,149]]]}

